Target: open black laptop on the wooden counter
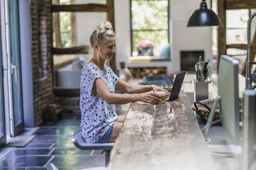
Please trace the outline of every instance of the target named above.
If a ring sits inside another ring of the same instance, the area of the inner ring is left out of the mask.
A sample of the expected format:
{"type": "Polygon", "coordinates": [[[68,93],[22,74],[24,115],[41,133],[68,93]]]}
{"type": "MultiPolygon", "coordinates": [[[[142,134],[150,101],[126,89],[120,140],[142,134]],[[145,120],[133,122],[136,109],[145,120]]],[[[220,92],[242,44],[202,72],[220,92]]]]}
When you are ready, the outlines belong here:
{"type": "Polygon", "coordinates": [[[166,101],[175,99],[176,97],[178,97],[180,95],[180,89],[181,89],[185,74],[186,74],[186,71],[176,75],[176,77],[174,79],[172,91],[171,91],[170,95],[166,96],[166,101]]]}

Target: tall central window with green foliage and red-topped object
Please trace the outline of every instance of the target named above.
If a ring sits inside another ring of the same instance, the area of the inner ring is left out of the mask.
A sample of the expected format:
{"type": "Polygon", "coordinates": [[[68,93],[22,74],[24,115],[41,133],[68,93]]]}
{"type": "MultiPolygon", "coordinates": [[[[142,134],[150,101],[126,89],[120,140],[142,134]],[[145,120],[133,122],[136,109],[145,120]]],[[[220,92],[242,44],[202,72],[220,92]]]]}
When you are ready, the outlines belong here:
{"type": "Polygon", "coordinates": [[[170,58],[168,0],[131,0],[132,56],[170,58]]]}

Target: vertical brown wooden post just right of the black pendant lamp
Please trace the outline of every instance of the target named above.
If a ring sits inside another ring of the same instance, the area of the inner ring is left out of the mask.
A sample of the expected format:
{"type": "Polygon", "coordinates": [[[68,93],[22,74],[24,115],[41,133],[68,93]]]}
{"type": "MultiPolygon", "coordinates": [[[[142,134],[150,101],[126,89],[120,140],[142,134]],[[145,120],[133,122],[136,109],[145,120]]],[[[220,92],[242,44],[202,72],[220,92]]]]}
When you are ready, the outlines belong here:
{"type": "Polygon", "coordinates": [[[227,54],[226,44],[226,0],[218,0],[218,16],[220,18],[221,26],[218,27],[218,58],[217,58],[217,72],[219,68],[220,55],[227,54]]]}

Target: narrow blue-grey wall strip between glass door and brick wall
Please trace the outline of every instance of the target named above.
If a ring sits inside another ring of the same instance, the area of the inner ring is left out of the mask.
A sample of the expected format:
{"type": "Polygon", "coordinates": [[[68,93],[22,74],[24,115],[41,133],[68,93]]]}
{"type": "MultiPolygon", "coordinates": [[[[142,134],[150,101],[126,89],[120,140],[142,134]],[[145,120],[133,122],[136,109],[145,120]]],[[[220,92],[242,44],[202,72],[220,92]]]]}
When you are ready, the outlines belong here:
{"type": "Polygon", "coordinates": [[[34,114],[34,91],[33,91],[33,59],[31,49],[31,23],[30,2],[23,0],[19,2],[20,16],[20,58],[22,74],[22,101],[24,124],[27,128],[35,127],[34,114]]]}

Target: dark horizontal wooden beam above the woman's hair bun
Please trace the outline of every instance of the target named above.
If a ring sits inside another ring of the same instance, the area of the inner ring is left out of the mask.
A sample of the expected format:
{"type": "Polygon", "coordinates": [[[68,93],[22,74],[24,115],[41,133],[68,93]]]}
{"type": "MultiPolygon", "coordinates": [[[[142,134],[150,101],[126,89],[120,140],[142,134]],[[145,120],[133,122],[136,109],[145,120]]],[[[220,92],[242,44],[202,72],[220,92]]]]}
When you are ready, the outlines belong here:
{"type": "Polygon", "coordinates": [[[52,5],[52,12],[108,12],[106,4],[52,5]]]}

